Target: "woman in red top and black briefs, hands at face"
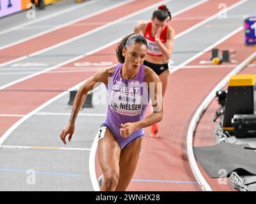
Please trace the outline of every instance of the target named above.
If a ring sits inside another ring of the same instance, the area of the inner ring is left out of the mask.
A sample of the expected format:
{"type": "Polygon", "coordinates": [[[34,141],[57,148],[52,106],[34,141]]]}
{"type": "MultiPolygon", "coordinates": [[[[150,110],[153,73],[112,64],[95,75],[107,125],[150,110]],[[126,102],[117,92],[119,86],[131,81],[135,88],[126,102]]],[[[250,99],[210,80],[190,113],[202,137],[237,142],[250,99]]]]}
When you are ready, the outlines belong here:
{"type": "MultiPolygon", "coordinates": [[[[167,24],[171,19],[170,11],[167,6],[162,5],[153,12],[150,22],[140,21],[136,25],[134,32],[144,36],[147,40],[147,55],[143,62],[146,66],[153,69],[163,83],[163,96],[165,94],[168,78],[168,63],[172,55],[174,45],[174,29],[167,24]]],[[[159,137],[158,124],[151,126],[152,137],[159,137]]]]}

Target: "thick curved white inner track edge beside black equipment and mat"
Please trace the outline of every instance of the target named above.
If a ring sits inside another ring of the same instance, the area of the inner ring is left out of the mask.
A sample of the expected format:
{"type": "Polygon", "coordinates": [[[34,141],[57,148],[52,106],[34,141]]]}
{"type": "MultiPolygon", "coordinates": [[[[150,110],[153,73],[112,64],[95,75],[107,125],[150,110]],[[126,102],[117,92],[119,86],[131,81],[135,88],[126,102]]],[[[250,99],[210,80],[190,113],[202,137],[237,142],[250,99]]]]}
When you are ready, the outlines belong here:
{"type": "Polygon", "coordinates": [[[193,115],[193,118],[190,122],[190,126],[188,128],[188,133],[187,133],[187,141],[186,141],[186,143],[187,143],[186,147],[187,147],[187,152],[188,152],[188,161],[190,163],[190,167],[193,171],[193,174],[195,175],[195,178],[199,182],[200,187],[202,188],[203,191],[212,191],[212,189],[209,186],[209,184],[207,183],[206,179],[204,179],[204,176],[202,175],[202,173],[200,172],[199,167],[197,166],[197,161],[195,160],[195,155],[193,153],[193,136],[195,133],[195,129],[197,127],[197,124],[198,124],[200,118],[204,114],[206,108],[209,106],[211,101],[213,101],[213,99],[215,98],[216,91],[218,89],[222,89],[223,87],[225,87],[227,82],[229,82],[229,78],[232,75],[236,75],[237,73],[239,73],[248,64],[255,61],[255,59],[256,59],[256,52],[254,52],[252,55],[250,55],[250,57],[248,57],[245,61],[243,61],[241,64],[239,64],[239,66],[237,66],[235,69],[230,71],[230,73],[225,78],[223,78],[222,81],[219,82],[219,84],[216,85],[216,87],[208,94],[206,99],[204,99],[204,101],[201,103],[199,108],[197,108],[197,111],[193,115]]]}

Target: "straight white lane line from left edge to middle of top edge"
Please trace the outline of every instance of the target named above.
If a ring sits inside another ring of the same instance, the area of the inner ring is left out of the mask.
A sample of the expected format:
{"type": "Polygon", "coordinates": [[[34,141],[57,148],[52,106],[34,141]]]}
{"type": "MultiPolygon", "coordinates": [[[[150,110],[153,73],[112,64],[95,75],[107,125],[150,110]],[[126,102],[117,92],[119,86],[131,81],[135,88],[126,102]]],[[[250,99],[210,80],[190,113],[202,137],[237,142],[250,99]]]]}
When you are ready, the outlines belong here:
{"type": "MultiPolygon", "coordinates": [[[[109,10],[113,10],[113,9],[119,7],[119,6],[123,6],[123,5],[128,4],[128,3],[131,3],[131,2],[133,2],[133,1],[135,1],[135,0],[128,0],[128,1],[124,1],[124,2],[121,2],[121,3],[115,4],[115,5],[113,5],[113,6],[109,6],[109,7],[107,7],[107,8],[102,9],[102,10],[96,11],[96,12],[94,12],[94,13],[90,13],[90,14],[88,14],[88,15],[85,15],[84,17],[77,18],[77,19],[72,20],[72,21],[70,21],[70,22],[67,22],[67,23],[65,23],[65,24],[61,24],[61,25],[58,25],[58,26],[56,26],[56,27],[54,27],[54,28],[48,29],[48,30],[46,30],[46,31],[42,31],[41,33],[34,34],[33,36],[29,36],[29,37],[27,37],[27,38],[23,38],[23,39],[21,39],[21,40],[15,41],[15,42],[10,43],[10,44],[8,44],[8,45],[3,45],[2,47],[0,47],[0,50],[3,50],[4,48],[7,48],[7,47],[11,47],[11,46],[13,46],[13,45],[17,45],[17,44],[22,43],[22,42],[24,42],[24,41],[31,40],[31,39],[36,38],[36,37],[38,37],[38,36],[42,36],[42,35],[44,35],[44,34],[47,34],[47,33],[52,32],[52,31],[56,31],[57,29],[61,29],[62,27],[66,27],[66,26],[68,26],[68,25],[75,24],[76,22],[79,22],[79,21],[81,21],[81,20],[85,20],[85,19],[87,19],[87,18],[91,18],[91,17],[93,17],[93,16],[95,16],[95,15],[100,15],[101,13],[104,13],[104,12],[109,11],[109,10]]],[[[91,1],[91,3],[95,3],[95,2],[91,1]]]]}

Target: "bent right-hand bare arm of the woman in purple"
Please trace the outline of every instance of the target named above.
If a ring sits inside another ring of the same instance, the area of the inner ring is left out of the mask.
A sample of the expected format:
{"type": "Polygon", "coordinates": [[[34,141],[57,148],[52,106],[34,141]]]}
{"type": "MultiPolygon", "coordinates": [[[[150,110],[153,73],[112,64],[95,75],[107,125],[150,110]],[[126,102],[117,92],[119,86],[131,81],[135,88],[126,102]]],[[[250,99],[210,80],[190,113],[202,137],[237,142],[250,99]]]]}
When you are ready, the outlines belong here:
{"type": "Polygon", "coordinates": [[[163,98],[162,98],[162,82],[156,73],[151,71],[149,76],[149,96],[153,104],[153,113],[145,119],[135,122],[137,128],[146,128],[163,119],[163,98]]]}

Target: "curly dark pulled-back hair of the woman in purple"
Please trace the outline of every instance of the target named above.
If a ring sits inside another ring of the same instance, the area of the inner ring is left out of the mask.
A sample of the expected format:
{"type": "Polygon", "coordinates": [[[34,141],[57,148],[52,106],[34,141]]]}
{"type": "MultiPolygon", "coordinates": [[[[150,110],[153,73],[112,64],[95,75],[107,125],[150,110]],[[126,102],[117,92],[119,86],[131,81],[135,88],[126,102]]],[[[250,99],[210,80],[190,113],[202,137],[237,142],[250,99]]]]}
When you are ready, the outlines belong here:
{"type": "Polygon", "coordinates": [[[146,45],[147,47],[146,39],[140,34],[131,33],[124,36],[124,38],[121,41],[119,41],[116,47],[116,57],[119,62],[124,62],[123,48],[131,46],[133,45],[133,43],[140,43],[140,45],[146,45]]]}

